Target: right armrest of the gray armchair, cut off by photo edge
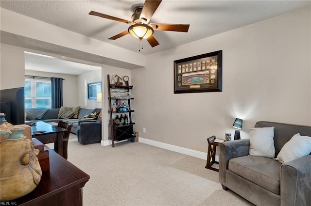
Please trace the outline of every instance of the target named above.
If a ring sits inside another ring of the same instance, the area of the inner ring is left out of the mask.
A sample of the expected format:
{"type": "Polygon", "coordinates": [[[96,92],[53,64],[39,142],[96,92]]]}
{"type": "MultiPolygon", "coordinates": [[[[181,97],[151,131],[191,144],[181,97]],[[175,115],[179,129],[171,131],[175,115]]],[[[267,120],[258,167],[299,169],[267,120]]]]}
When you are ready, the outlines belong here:
{"type": "Polygon", "coordinates": [[[281,206],[311,203],[311,155],[281,165],[281,206]]]}

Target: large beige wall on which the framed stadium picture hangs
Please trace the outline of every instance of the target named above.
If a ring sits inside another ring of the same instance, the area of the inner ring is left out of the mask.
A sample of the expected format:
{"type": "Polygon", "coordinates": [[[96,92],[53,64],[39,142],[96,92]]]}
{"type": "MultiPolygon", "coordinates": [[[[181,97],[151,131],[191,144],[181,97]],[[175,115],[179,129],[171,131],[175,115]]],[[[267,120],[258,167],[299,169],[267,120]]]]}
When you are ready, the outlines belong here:
{"type": "Polygon", "coordinates": [[[311,125],[310,8],[147,56],[132,70],[139,136],[197,151],[257,121],[311,125]],[[173,61],[223,50],[223,92],[173,94],[173,61]],[[143,133],[146,128],[146,133],[143,133]]]}

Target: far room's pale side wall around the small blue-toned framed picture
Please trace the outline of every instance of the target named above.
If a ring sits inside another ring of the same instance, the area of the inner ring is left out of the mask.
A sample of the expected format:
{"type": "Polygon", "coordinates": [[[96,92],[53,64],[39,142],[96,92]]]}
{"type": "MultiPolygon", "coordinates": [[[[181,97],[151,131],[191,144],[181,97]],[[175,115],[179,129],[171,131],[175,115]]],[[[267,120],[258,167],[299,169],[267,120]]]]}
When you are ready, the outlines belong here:
{"type": "MultiPolygon", "coordinates": [[[[78,99],[78,106],[81,108],[86,109],[95,109],[95,108],[102,108],[102,104],[98,103],[97,100],[94,99],[87,99],[87,84],[102,81],[102,70],[96,70],[92,72],[88,72],[78,76],[78,92],[77,92],[77,99],[78,99]]],[[[103,88],[103,85],[102,85],[103,88]]]]}

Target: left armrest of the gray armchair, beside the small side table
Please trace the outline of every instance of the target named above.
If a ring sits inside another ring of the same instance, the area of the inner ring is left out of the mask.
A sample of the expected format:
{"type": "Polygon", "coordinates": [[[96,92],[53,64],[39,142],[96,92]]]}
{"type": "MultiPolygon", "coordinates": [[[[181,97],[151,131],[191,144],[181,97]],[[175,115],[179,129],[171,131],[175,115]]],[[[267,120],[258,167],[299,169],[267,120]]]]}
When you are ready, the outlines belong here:
{"type": "Polygon", "coordinates": [[[248,155],[249,139],[219,143],[219,181],[225,187],[225,173],[229,160],[248,155]]]}

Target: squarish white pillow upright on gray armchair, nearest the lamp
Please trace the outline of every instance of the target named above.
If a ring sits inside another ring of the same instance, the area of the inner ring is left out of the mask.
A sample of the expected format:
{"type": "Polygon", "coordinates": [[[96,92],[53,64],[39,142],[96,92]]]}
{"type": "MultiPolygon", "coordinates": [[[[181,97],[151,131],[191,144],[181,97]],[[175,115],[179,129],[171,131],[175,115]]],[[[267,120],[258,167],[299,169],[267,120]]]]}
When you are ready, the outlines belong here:
{"type": "Polygon", "coordinates": [[[254,156],[274,158],[274,127],[256,127],[249,129],[250,145],[248,153],[254,156]]]}

